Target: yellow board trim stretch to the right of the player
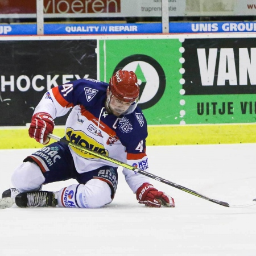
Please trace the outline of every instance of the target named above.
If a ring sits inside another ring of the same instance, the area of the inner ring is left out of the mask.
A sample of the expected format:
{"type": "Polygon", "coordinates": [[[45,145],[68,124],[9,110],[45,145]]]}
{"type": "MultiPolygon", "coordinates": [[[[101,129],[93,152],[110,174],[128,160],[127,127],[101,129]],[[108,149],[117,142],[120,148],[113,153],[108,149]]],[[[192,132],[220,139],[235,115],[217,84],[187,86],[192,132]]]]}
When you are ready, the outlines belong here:
{"type": "Polygon", "coordinates": [[[148,146],[255,142],[256,123],[148,127],[148,146]]]}

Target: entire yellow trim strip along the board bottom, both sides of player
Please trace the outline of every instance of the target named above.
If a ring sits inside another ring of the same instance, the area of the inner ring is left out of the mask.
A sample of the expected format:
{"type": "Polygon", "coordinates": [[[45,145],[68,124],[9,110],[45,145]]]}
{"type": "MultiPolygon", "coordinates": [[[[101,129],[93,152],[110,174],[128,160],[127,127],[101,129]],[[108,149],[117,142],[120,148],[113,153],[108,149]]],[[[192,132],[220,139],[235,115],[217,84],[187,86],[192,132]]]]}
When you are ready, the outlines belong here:
{"type": "MultiPolygon", "coordinates": [[[[56,126],[53,134],[63,137],[64,127],[56,126]]],[[[53,141],[53,140],[52,140],[53,141]]],[[[256,124],[225,125],[150,125],[147,146],[255,143],[256,124]]],[[[27,127],[1,127],[0,149],[41,148],[28,136],[27,127]]]]}

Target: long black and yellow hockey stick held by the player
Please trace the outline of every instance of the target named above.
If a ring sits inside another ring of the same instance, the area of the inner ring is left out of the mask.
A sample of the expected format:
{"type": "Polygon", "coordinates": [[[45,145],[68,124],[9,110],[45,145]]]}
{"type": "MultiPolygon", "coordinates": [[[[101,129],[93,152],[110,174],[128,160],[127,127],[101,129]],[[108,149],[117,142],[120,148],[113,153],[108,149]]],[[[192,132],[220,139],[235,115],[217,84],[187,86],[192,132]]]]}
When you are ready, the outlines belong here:
{"type": "Polygon", "coordinates": [[[125,167],[131,171],[134,171],[134,172],[138,172],[138,174],[142,174],[142,175],[145,175],[147,177],[151,177],[152,179],[154,180],[158,180],[164,184],[167,184],[167,185],[170,185],[174,188],[177,188],[177,189],[180,189],[184,192],[187,192],[187,193],[190,193],[191,195],[194,195],[194,196],[197,196],[197,197],[201,197],[201,199],[205,199],[205,200],[208,200],[212,203],[216,203],[216,204],[219,204],[219,205],[222,205],[224,207],[250,207],[252,205],[255,205],[256,204],[256,199],[254,199],[251,203],[247,203],[247,204],[243,204],[243,205],[231,205],[231,204],[228,204],[226,202],[222,202],[222,201],[219,201],[219,200],[215,200],[215,199],[210,199],[209,197],[207,196],[204,196],[204,195],[201,195],[200,193],[196,192],[196,191],[193,191],[189,188],[185,188],[179,184],[176,184],[172,181],[169,181],[169,180],[166,180],[166,179],[163,179],[162,177],[159,177],[159,176],[156,176],[154,174],[150,174],[149,172],[146,172],[146,171],[142,171],[138,168],[135,168],[133,166],[130,166],[129,164],[126,164],[126,163],[123,163],[119,160],[116,160],[116,159],[113,159],[113,158],[110,158],[109,156],[106,156],[106,155],[103,155],[103,154],[100,154],[100,153],[97,153],[97,152],[94,152],[92,150],[89,150],[88,148],[86,147],[82,147],[80,146],[79,144],[76,144],[76,143],[73,143],[73,142],[70,142],[70,141],[67,141],[66,139],[64,138],[60,138],[60,137],[57,137],[56,135],[53,135],[53,134],[48,134],[48,137],[49,138],[52,138],[52,139],[55,139],[56,141],[59,141],[59,142],[63,142],[65,144],[68,144],[69,146],[72,146],[72,147],[75,147],[81,151],[84,151],[84,152],[87,152],[91,155],[94,155],[94,156],[97,156],[98,158],[101,158],[101,159],[104,159],[104,160],[107,160],[109,162],[112,162],[114,164],[117,164],[118,166],[122,166],[122,167],[125,167]]]}

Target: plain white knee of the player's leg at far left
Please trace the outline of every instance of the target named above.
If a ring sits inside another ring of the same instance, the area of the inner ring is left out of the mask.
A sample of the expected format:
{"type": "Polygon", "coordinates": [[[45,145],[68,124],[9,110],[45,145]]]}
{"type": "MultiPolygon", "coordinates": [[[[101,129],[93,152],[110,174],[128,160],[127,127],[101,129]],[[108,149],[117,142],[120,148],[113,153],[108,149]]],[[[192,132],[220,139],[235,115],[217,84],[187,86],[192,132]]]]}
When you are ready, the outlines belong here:
{"type": "Polygon", "coordinates": [[[20,192],[38,191],[44,180],[39,166],[31,162],[20,164],[11,176],[11,183],[20,192]]]}

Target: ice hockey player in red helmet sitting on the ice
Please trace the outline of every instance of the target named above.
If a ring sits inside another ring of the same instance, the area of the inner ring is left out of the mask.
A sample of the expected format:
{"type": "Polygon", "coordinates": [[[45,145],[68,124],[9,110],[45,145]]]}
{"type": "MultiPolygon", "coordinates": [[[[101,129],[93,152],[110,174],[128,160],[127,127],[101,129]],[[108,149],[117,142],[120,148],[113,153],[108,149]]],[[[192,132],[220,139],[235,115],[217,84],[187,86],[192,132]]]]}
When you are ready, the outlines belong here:
{"type": "MultiPolygon", "coordinates": [[[[109,84],[94,79],[68,82],[44,94],[28,133],[37,142],[48,144],[53,120],[72,108],[65,139],[148,170],[147,123],[137,106],[138,98],[137,76],[131,71],[117,71],[109,84]]],[[[18,207],[99,208],[114,198],[117,167],[67,144],[53,142],[23,160],[11,177],[13,187],[3,192],[2,198],[12,199],[18,207]],[[77,184],[57,192],[42,191],[43,184],[68,179],[76,179],[77,184]]],[[[123,175],[140,204],[175,207],[174,199],[154,188],[148,177],[126,168],[123,175]]]]}

